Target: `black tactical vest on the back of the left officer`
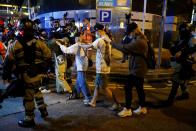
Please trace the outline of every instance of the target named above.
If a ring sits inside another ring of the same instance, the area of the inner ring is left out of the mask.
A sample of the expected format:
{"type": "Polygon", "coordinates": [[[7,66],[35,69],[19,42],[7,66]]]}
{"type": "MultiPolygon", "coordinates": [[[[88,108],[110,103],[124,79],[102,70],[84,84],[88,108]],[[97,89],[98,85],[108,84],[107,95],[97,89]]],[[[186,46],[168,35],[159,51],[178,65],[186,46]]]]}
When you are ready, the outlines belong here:
{"type": "Polygon", "coordinates": [[[43,54],[39,48],[41,41],[35,40],[31,46],[16,41],[14,46],[15,65],[18,73],[26,72],[30,77],[35,77],[43,72],[43,54]]]}

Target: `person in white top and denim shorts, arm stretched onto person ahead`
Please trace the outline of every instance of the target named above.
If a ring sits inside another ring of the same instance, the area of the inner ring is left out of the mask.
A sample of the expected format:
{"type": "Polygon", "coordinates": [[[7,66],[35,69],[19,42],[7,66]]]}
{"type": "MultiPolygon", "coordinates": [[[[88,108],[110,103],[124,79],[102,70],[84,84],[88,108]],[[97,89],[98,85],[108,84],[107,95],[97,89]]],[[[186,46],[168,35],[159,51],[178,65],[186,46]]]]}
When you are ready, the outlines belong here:
{"type": "Polygon", "coordinates": [[[94,48],[96,50],[96,79],[94,94],[89,106],[96,107],[96,101],[100,89],[103,89],[109,100],[113,99],[111,91],[107,88],[108,77],[110,73],[110,64],[106,60],[106,55],[111,57],[111,40],[104,31],[104,26],[96,24],[94,27],[96,31],[96,40],[92,44],[80,45],[83,48],[94,48]]]}

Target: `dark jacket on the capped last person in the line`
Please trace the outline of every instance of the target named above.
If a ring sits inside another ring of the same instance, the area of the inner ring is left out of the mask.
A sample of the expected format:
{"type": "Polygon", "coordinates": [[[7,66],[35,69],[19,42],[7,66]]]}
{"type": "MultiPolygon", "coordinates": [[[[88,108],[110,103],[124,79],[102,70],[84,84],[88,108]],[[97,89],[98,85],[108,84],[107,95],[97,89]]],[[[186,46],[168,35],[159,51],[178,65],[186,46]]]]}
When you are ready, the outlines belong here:
{"type": "Polygon", "coordinates": [[[141,56],[145,56],[148,50],[147,39],[140,35],[128,44],[113,44],[113,47],[126,54],[131,54],[129,58],[130,74],[143,78],[147,73],[147,63],[141,56]]]}

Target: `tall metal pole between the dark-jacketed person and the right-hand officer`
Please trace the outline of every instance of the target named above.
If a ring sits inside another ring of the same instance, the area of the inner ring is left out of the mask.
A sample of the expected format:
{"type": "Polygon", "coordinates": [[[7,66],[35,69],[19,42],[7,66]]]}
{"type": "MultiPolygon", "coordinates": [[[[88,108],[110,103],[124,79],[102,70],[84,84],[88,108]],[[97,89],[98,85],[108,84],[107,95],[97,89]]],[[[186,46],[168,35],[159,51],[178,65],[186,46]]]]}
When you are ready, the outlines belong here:
{"type": "Polygon", "coordinates": [[[167,0],[163,0],[163,11],[162,11],[159,52],[158,52],[158,65],[157,65],[158,69],[161,67],[161,51],[162,51],[162,47],[163,47],[166,12],[167,12],[167,0]]]}

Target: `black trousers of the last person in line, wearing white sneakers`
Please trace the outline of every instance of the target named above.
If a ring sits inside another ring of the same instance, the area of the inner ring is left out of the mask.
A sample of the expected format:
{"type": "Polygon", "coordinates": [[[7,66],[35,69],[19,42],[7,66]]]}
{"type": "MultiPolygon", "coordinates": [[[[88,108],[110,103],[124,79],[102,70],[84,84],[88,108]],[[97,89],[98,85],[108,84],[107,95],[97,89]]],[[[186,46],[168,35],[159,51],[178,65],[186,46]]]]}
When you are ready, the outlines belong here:
{"type": "Polygon", "coordinates": [[[127,109],[131,108],[133,87],[136,87],[138,98],[139,98],[139,105],[144,107],[145,106],[144,78],[137,77],[134,75],[129,75],[128,80],[124,87],[126,108],[127,109]]]}

